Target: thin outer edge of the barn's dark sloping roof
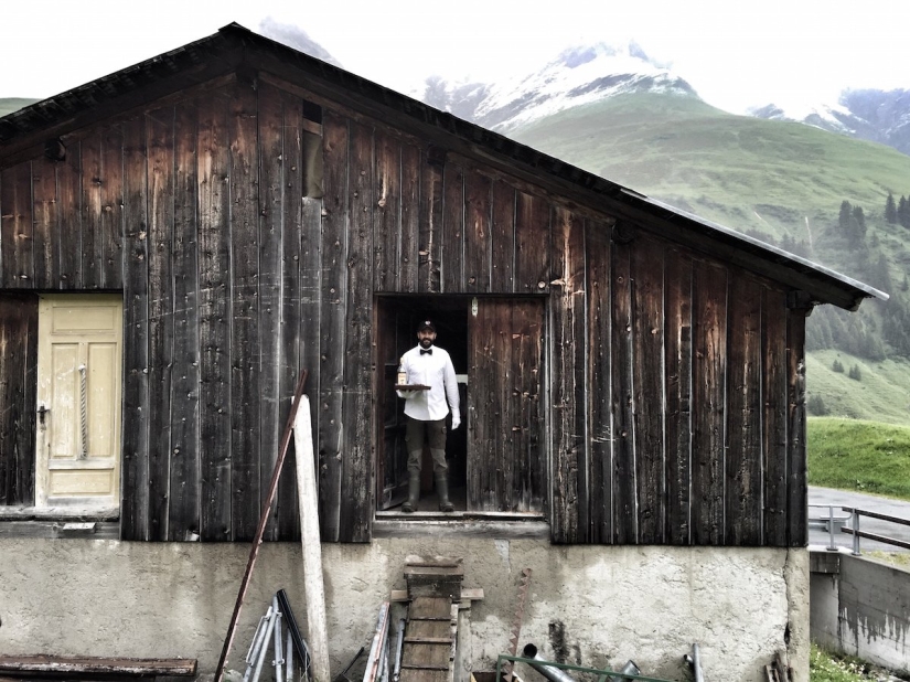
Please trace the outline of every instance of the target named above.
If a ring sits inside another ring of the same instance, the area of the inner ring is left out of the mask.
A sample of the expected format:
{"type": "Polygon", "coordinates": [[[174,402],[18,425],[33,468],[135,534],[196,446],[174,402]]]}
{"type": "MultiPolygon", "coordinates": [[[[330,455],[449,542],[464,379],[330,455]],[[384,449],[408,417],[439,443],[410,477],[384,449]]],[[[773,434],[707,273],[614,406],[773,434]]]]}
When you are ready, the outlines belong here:
{"type": "Polygon", "coordinates": [[[54,97],[49,97],[0,118],[0,143],[20,136],[35,134],[43,128],[60,124],[73,117],[79,111],[90,109],[99,103],[114,100],[126,92],[142,87],[161,76],[176,73],[188,65],[199,63],[200,55],[194,54],[196,49],[202,49],[206,52],[217,50],[218,47],[232,49],[236,46],[236,43],[232,44],[232,39],[239,39],[239,42],[244,45],[251,42],[254,45],[281,51],[285,55],[293,57],[299,65],[317,71],[319,75],[335,84],[347,88],[353,87],[360,95],[370,97],[384,106],[396,108],[407,116],[438,127],[451,135],[482,145],[488,148],[491,153],[505,157],[510,161],[568,181],[588,192],[607,195],[613,201],[619,201],[628,205],[643,204],[642,207],[652,213],[654,209],[659,209],[666,214],[664,215],[665,219],[670,217],[673,222],[684,223],[683,227],[686,230],[702,233],[718,242],[735,245],[743,253],[764,259],[772,265],[786,267],[804,277],[827,280],[828,285],[841,289],[841,291],[846,295],[846,298],[852,301],[852,305],[848,305],[849,301],[843,299],[834,300],[834,298],[824,296],[820,297],[818,302],[832,302],[844,308],[855,309],[864,298],[878,298],[880,300],[888,300],[889,298],[888,294],[856,279],[794,254],[790,254],[777,246],[739,233],[719,223],[708,221],[682,209],[677,209],[676,206],[671,206],[660,200],[649,198],[606,178],[589,173],[561,159],[550,157],[497,132],[458,118],[447,111],[430,107],[383,85],[362,78],[326,62],[322,62],[293,47],[259,35],[236,22],[223,26],[217,33],[186,43],[170,52],[133,64],[132,66],[127,66],[113,74],[61,93],[54,97]],[[220,45],[218,43],[223,44],[220,45]],[[126,84],[124,82],[126,82],[126,84]],[[118,85],[120,85],[120,87],[118,87],[118,85]],[[126,85],[126,88],[122,88],[124,85],[126,85]]]}

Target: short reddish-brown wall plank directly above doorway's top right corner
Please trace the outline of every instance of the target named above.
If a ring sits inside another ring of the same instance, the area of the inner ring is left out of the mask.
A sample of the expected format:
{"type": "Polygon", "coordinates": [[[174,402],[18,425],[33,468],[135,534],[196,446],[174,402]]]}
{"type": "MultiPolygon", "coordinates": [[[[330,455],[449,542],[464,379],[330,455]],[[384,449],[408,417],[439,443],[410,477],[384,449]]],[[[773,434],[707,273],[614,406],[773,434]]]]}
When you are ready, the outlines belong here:
{"type": "MultiPolygon", "coordinates": [[[[547,294],[550,258],[550,210],[539,196],[517,192],[515,210],[515,288],[521,294],[547,294]]],[[[554,247],[556,245],[554,244],[554,247]]],[[[554,270],[557,270],[553,266],[554,270]]]]}

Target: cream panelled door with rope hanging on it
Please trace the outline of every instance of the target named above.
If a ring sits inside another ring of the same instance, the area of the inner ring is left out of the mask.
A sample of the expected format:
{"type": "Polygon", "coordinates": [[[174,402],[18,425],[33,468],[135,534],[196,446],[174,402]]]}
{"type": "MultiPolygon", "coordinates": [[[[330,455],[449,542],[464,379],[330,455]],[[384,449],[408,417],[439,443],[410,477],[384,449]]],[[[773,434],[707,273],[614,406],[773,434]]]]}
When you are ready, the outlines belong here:
{"type": "Polygon", "coordinates": [[[39,507],[120,501],[122,302],[44,296],[38,311],[39,507]]]}

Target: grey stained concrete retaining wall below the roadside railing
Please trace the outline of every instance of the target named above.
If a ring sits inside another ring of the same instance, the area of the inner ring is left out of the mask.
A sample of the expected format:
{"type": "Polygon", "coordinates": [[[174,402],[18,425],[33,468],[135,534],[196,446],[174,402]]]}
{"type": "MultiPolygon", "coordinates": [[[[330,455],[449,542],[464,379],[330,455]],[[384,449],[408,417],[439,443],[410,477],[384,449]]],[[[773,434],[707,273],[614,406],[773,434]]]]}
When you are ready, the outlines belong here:
{"type": "Polygon", "coordinates": [[[910,670],[910,573],[841,555],[839,574],[812,574],[812,638],[898,672],[910,670]]]}

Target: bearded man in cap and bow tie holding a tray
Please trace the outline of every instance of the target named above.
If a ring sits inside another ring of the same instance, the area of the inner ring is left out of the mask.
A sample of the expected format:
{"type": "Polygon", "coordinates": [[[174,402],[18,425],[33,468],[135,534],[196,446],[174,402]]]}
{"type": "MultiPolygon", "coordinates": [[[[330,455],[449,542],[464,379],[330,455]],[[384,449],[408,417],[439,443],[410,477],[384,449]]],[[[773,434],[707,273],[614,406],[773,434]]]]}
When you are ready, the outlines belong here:
{"type": "Polygon", "coordinates": [[[430,320],[422,320],[417,327],[417,347],[402,356],[399,371],[406,374],[407,384],[429,386],[429,390],[398,391],[398,395],[405,398],[405,441],[408,449],[408,499],[402,505],[402,511],[411,513],[417,509],[420,499],[420,460],[424,444],[429,443],[439,510],[450,512],[454,511],[454,505],[449,500],[446,416],[451,407],[452,430],[461,424],[458,384],[449,353],[433,345],[436,326],[430,320]]]}

